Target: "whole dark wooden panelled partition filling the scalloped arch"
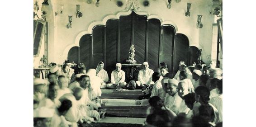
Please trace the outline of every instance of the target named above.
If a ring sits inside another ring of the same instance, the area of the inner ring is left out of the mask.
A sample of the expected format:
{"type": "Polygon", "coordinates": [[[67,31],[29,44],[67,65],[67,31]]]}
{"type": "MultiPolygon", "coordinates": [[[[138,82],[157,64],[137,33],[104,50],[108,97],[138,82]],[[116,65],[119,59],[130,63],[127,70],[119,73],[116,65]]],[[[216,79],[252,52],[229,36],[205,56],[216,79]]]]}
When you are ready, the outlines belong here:
{"type": "Polygon", "coordinates": [[[159,19],[147,19],[146,15],[135,12],[120,19],[109,19],[106,26],[95,26],[92,34],[80,39],[80,47],[71,48],[68,59],[85,63],[88,69],[96,68],[98,62],[103,61],[110,77],[117,62],[125,63],[131,44],[135,46],[137,63],[148,61],[154,71],[160,62],[166,62],[170,71],[174,66],[174,71],[177,70],[180,60],[190,62],[189,42],[184,34],[175,35],[173,26],[161,26],[159,19]]]}

